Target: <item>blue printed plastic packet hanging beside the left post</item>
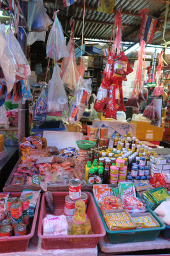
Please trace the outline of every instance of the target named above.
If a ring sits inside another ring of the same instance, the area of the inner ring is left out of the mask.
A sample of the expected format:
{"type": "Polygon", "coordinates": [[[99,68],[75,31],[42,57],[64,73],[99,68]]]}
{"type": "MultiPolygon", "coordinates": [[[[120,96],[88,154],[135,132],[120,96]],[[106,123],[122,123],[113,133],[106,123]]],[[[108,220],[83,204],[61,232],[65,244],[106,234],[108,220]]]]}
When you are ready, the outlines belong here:
{"type": "Polygon", "coordinates": [[[45,90],[42,90],[34,106],[33,121],[35,122],[36,126],[39,127],[39,125],[45,122],[46,114],[47,114],[47,93],[45,90]]]}

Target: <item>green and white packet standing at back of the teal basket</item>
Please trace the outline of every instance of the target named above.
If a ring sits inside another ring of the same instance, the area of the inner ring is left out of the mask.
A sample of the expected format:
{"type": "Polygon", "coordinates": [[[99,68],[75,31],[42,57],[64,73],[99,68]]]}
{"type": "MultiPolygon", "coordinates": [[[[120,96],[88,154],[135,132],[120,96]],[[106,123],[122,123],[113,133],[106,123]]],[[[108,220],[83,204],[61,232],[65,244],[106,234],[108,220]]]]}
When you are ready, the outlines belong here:
{"type": "Polygon", "coordinates": [[[136,191],[134,188],[134,184],[132,184],[131,182],[119,182],[118,189],[119,189],[119,194],[120,194],[121,200],[124,196],[136,197],[136,191]]]}

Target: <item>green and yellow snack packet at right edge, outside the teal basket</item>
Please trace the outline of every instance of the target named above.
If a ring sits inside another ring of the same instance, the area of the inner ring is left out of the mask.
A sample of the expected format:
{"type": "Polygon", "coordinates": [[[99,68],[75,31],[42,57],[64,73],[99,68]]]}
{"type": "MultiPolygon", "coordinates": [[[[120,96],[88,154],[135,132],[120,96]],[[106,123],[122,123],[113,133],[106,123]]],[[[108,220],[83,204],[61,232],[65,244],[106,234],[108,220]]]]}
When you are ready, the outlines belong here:
{"type": "Polygon", "coordinates": [[[148,192],[157,204],[162,203],[167,197],[169,197],[169,193],[167,193],[166,189],[163,187],[150,189],[148,192]]]}

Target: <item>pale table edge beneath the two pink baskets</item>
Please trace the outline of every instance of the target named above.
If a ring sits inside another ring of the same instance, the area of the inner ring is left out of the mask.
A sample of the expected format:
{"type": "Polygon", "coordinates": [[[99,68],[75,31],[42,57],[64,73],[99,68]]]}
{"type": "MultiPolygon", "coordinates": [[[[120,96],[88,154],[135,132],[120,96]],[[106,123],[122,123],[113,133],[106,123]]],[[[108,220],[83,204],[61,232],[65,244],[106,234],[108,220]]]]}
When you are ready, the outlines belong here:
{"type": "Polygon", "coordinates": [[[27,251],[25,252],[11,252],[3,253],[3,256],[96,256],[97,246],[95,248],[85,248],[85,249],[62,249],[62,250],[44,250],[42,247],[41,239],[34,235],[32,237],[27,251]]]}

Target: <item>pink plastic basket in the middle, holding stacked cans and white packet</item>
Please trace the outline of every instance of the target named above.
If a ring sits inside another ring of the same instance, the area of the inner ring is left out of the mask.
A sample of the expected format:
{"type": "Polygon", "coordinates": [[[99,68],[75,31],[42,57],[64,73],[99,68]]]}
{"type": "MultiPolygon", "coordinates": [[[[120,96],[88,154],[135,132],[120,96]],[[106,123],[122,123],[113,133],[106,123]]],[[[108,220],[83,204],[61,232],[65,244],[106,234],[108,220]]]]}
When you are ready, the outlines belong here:
{"type": "MultiPolygon", "coordinates": [[[[97,211],[94,199],[89,192],[88,195],[87,216],[92,225],[92,235],[81,236],[43,236],[43,218],[46,216],[45,194],[41,200],[41,211],[39,215],[38,236],[42,239],[44,249],[70,249],[70,248],[93,248],[99,243],[101,237],[104,237],[106,231],[97,211]]],[[[64,214],[64,202],[68,192],[52,192],[55,214],[64,214]]]]}

